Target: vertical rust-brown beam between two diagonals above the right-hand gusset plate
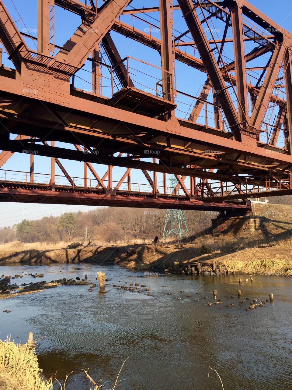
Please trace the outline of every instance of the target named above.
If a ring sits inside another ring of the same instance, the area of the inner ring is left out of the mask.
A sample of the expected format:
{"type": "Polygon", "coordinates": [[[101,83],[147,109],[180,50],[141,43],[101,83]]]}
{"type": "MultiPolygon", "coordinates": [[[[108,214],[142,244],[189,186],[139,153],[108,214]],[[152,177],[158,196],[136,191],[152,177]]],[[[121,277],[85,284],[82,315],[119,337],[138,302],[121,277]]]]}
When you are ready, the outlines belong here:
{"type": "Polygon", "coordinates": [[[237,88],[237,112],[240,122],[245,122],[247,117],[247,88],[245,78],[245,53],[243,48],[243,23],[242,10],[237,3],[230,7],[234,49],[234,66],[237,88]]]}

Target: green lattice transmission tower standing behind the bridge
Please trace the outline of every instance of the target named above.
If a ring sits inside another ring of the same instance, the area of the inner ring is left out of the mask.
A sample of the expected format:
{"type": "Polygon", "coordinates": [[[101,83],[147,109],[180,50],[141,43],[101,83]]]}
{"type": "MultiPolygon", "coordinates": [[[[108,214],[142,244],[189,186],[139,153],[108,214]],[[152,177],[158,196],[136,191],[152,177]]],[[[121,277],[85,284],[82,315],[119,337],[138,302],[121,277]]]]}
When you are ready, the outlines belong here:
{"type": "MultiPolygon", "coordinates": [[[[170,177],[171,188],[175,189],[178,181],[171,175],[170,177]]],[[[170,210],[168,209],[166,212],[164,231],[163,231],[163,239],[170,237],[178,237],[188,234],[188,227],[186,226],[185,215],[183,210],[170,210]]]]}

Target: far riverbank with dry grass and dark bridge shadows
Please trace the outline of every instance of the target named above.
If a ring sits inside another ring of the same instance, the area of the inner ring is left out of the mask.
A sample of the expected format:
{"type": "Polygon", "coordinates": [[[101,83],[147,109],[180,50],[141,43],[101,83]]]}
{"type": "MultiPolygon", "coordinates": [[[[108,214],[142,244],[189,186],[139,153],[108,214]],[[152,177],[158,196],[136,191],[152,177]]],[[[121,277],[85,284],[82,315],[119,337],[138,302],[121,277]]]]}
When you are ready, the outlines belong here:
{"type": "Polygon", "coordinates": [[[275,273],[292,276],[292,239],[272,240],[233,235],[207,235],[190,243],[158,245],[79,246],[75,249],[0,252],[0,265],[96,263],[119,264],[134,269],[172,271],[174,264],[200,262],[209,269],[215,262],[237,273],[275,273]]]}

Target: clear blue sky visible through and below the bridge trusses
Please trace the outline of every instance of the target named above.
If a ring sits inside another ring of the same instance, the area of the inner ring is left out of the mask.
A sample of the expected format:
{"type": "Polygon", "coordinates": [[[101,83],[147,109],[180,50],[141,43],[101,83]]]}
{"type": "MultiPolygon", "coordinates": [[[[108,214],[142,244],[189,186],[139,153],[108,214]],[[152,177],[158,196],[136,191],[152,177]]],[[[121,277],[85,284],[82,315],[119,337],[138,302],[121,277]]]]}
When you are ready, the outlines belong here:
{"type": "MultiPolygon", "coordinates": [[[[85,2],[85,1],[83,1],[85,2]]],[[[276,21],[279,25],[281,25],[283,28],[287,29],[288,31],[292,32],[291,27],[291,19],[292,19],[292,1],[291,0],[279,0],[278,2],[275,2],[274,0],[251,0],[251,4],[253,4],[255,7],[259,8],[262,12],[267,14],[271,19],[276,21]]],[[[6,5],[7,9],[9,10],[13,20],[18,20],[16,22],[16,25],[18,26],[19,30],[21,31],[27,31],[31,35],[36,36],[37,35],[37,0],[14,0],[14,4],[16,5],[16,8],[18,9],[22,20],[19,20],[19,15],[16,12],[16,9],[14,8],[11,0],[4,0],[4,4],[6,5]]],[[[102,2],[99,0],[98,5],[102,4],[102,2]]],[[[174,1],[175,4],[175,1],[174,1]]],[[[132,4],[135,8],[139,7],[151,7],[151,6],[157,6],[158,0],[134,0],[132,4]]],[[[143,19],[147,20],[148,22],[152,23],[153,32],[152,34],[154,36],[157,36],[159,38],[159,31],[155,30],[155,25],[159,25],[159,15],[157,12],[149,13],[148,16],[146,14],[139,15],[143,19]]],[[[130,16],[124,16],[123,21],[130,24],[132,20],[132,17],[130,16]]],[[[181,21],[181,14],[180,11],[175,11],[174,13],[174,20],[175,20],[175,27],[177,29],[175,35],[179,35],[180,32],[183,32],[184,29],[184,22],[181,21]]],[[[67,11],[64,11],[63,9],[59,7],[55,7],[55,43],[58,45],[62,45],[65,43],[65,41],[72,35],[72,33],[76,30],[76,28],[80,24],[80,19],[76,15],[72,15],[67,11]]],[[[139,21],[138,19],[135,19],[135,27],[143,29],[147,27],[146,23],[139,21]]],[[[130,55],[135,58],[139,58],[141,60],[151,62],[152,64],[155,64],[157,66],[161,66],[160,64],[160,55],[154,51],[151,50],[148,47],[145,47],[141,44],[136,43],[135,41],[132,41],[131,39],[127,39],[123,36],[120,36],[119,34],[112,32],[111,33],[114,42],[119,48],[121,57],[125,57],[126,55],[130,55]]],[[[190,35],[188,35],[188,38],[185,38],[186,41],[191,41],[190,35]]],[[[32,40],[27,39],[28,45],[35,49],[34,43],[32,40]]],[[[247,46],[248,47],[248,46],[247,46]]],[[[250,43],[249,50],[251,50],[254,46],[250,43]]],[[[189,48],[188,50],[192,50],[189,48]]],[[[228,55],[228,50],[230,50],[230,58],[232,58],[232,45],[227,45],[226,47],[226,55],[228,55]]],[[[266,59],[268,59],[268,55],[266,59]]],[[[4,55],[4,63],[5,65],[9,66],[9,63],[5,59],[4,55]]],[[[10,64],[11,66],[11,64],[10,64]]],[[[145,68],[144,65],[141,65],[134,60],[132,60],[131,65],[135,70],[133,70],[132,78],[137,83],[137,87],[141,89],[151,89],[155,88],[155,77],[157,77],[157,80],[159,80],[160,72],[155,69],[151,68],[145,68]],[[142,73],[143,72],[143,73],[142,73]],[[146,76],[144,73],[150,74],[153,77],[146,76]],[[139,87],[139,85],[141,85],[139,87]]],[[[88,89],[90,90],[91,84],[90,84],[90,74],[86,71],[90,69],[90,64],[87,64],[84,67],[84,70],[79,72],[79,77],[76,78],[76,86],[82,89],[88,89]]],[[[104,72],[104,71],[103,71],[104,72]]],[[[104,73],[103,73],[104,74],[104,73]]],[[[204,85],[204,82],[206,80],[206,75],[202,74],[198,71],[194,71],[193,69],[190,69],[185,64],[182,64],[181,62],[176,62],[176,81],[177,81],[177,89],[183,90],[192,96],[197,96],[198,92],[201,90],[202,85],[204,85]],[[189,72],[188,74],[186,72],[189,72]]],[[[107,88],[109,84],[107,85],[106,80],[104,80],[104,89],[103,94],[106,95],[109,93],[109,88],[107,88]]],[[[109,96],[109,95],[108,95],[109,96]]],[[[192,99],[186,99],[183,97],[178,96],[178,101],[181,103],[178,103],[178,110],[176,112],[176,115],[184,118],[187,117],[187,112],[190,110],[192,99]]],[[[66,147],[70,147],[70,145],[66,145],[66,147]]],[[[69,174],[74,177],[83,177],[83,165],[76,162],[76,161],[62,161],[65,168],[68,170],[69,174]]],[[[48,158],[42,157],[42,156],[36,156],[35,158],[35,172],[40,172],[42,174],[49,173],[49,167],[50,162],[48,158]]],[[[5,163],[5,165],[2,167],[3,169],[7,170],[21,170],[21,171],[28,171],[29,170],[29,157],[25,156],[23,154],[14,154],[12,158],[5,163]]],[[[106,171],[106,167],[102,165],[96,166],[97,171],[100,176],[103,175],[103,173],[106,171]]],[[[123,172],[125,171],[125,168],[114,168],[114,177],[119,180],[123,172]]],[[[12,173],[11,173],[12,175],[12,173]]],[[[61,175],[60,170],[58,170],[58,167],[56,167],[56,175],[61,175]]],[[[37,175],[36,175],[37,177],[37,175]]],[[[92,176],[89,177],[93,178],[92,176]]],[[[132,181],[136,183],[146,183],[146,180],[143,178],[143,175],[140,171],[133,170],[132,174],[132,181]]],[[[44,176],[40,175],[39,179],[44,180],[44,176]]],[[[60,183],[61,183],[61,178],[60,183]]],[[[81,179],[76,179],[78,182],[81,179]]],[[[158,184],[162,181],[162,176],[158,174],[158,184]]],[[[78,211],[79,209],[86,211],[92,207],[88,206],[62,206],[62,205],[48,205],[48,204],[23,204],[23,203],[0,203],[0,227],[10,225],[12,226],[14,223],[18,223],[23,218],[28,219],[38,219],[42,218],[45,215],[60,215],[61,213],[65,211],[78,211]]]]}

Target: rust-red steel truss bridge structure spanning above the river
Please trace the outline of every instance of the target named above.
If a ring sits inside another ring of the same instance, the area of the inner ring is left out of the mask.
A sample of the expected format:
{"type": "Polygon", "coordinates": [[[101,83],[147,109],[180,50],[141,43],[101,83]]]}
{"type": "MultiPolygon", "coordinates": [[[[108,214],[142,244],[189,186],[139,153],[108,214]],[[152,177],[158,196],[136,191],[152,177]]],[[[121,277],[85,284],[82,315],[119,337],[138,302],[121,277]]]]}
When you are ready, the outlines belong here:
{"type": "Polygon", "coordinates": [[[292,193],[292,35],[245,0],[157,0],[143,9],[136,2],[38,0],[34,37],[18,30],[0,0],[3,57],[15,68],[0,68],[0,165],[33,151],[25,178],[0,171],[0,200],[242,212],[246,198],[292,193]],[[55,44],[56,7],[81,18],[63,46],[55,44]],[[159,12],[158,26],[145,21],[151,12],[159,12]],[[176,20],[185,32],[176,33],[176,20]],[[121,58],[116,33],[158,51],[161,63],[137,60],[135,51],[121,58]],[[84,90],[76,80],[88,63],[84,90]],[[188,69],[205,74],[198,96],[178,90],[181,63],[190,83],[188,69]],[[158,74],[151,89],[135,77],[141,64],[158,74]],[[35,179],[36,153],[51,158],[47,181],[35,179]],[[84,164],[82,184],[60,158],[84,164]],[[95,163],[107,166],[104,176],[95,163]],[[118,180],[113,167],[125,167],[118,180]],[[134,188],[133,169],[148,190],[134,188]],[[167,187],[168,174],[176,189],[167,187]]]}

